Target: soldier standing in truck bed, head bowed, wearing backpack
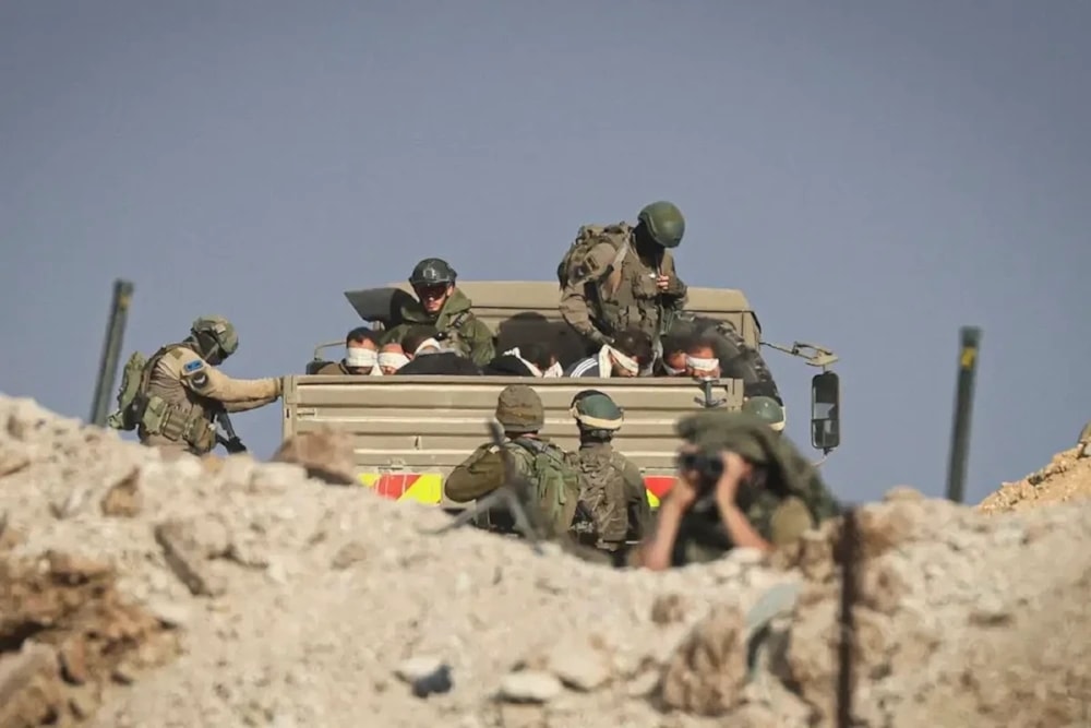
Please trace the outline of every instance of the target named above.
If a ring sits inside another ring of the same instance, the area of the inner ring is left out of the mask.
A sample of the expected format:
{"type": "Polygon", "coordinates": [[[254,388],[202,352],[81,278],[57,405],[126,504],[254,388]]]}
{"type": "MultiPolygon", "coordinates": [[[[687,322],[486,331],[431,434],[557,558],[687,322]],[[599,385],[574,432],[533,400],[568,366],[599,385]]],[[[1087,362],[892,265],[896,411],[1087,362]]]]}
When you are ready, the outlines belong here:
{"type": "Polygon", "coordinates": [[[685,307],[686,285],[671,252],[682,242],[685,218],[671,202],[646,205],[635,227],[584,226],[558,266],[561,315],[588,345],[610,344],[637,326],[654,342],[685,307]]]}

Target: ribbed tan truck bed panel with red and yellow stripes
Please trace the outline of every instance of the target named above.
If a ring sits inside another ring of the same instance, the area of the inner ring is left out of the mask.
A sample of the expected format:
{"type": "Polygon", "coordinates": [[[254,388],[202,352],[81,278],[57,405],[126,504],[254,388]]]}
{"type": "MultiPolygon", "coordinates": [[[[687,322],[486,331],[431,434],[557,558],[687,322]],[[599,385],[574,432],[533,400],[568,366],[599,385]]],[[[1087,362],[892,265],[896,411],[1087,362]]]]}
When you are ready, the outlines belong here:
{"type": "MultiPolygon", "coordinates": [[[[443,479],[489,438],[500,391],[533,386],[546,407],[542,434],[565,450],[578,446],[568,414],[582,390],[606,392],[625,410],[615,446],[643,470],[648,500],[658,505],[669,489],[678,439],[674,422],[705,399],[690,379],[537,379],[521,377],[316,377],[285,382],[283,434],[320,428],[352,435],[362,485],[386,498],[447,509],[465,508],[443,497],[443,479]]],[[[717,383],[726,409],[742,405],[738,380],[717,383]]]]}

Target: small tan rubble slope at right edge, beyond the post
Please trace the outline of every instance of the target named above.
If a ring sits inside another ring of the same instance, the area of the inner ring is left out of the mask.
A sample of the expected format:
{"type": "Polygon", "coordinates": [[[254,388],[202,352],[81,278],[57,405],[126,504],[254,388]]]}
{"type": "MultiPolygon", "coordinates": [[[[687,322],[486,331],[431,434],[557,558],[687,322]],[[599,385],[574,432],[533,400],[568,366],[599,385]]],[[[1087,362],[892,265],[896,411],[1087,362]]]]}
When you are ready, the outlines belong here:
{"type": "Polygon", "coordinates": [[[1006,513],[1086,498],[1091,498],[1091,447],[1083,443],[1057,453],[1022,480],[1005,482],[978,508],[983,513],[1006,513]]]}

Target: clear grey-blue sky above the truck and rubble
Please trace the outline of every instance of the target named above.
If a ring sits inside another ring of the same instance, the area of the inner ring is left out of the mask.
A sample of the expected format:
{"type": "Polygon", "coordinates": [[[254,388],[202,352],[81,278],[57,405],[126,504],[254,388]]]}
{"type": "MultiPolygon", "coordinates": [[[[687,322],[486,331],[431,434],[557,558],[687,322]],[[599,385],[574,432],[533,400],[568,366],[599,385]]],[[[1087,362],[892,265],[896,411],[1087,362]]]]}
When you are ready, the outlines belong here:
{"type": "MultiPolygon", "coordinates": [[[[229,373],[283,374],[345,289],[551,279],[666,198],[684,279],[842,357],[844,498],[943,491],[983,326],[980,499],[1091,418],[1089,32],[1065,0],[8,0],[0,390],[86,417],[115,277],[127,353],[219,312],[229,373]]],[[[805,443],[814,370],[768,356],[805,443]]],[[[237,426],[267,455],[279,407],[237,426]]]]}

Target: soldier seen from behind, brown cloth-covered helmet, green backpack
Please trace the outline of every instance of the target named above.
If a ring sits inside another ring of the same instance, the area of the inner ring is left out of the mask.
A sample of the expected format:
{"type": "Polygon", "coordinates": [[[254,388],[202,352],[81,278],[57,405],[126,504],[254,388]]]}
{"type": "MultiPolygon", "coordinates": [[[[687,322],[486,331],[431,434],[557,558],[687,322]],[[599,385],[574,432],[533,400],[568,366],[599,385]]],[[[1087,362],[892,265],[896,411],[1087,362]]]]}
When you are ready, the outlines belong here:
{"type": "MultiPolygon", "coordinates": [[[[504,486],[507,472],[503,453],[506,452],[515,473],[533,488],[549,532],[542,536],[561,537],[579,527],[575,515],[583,478],[567,453],[538,434],[546,423],[546,410],[538,393],[526,384],[504,387],[496,401],[496,420],[507,438],[503,452],[491,442],[475,450],[443,484],[447,498],[467,503],[504,486]]],[[[477,525],[501,533],[514,532],[514,523],[505,514],[482,514],[477,525]]]]}

